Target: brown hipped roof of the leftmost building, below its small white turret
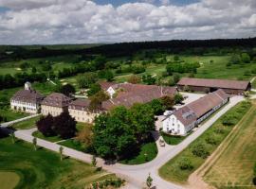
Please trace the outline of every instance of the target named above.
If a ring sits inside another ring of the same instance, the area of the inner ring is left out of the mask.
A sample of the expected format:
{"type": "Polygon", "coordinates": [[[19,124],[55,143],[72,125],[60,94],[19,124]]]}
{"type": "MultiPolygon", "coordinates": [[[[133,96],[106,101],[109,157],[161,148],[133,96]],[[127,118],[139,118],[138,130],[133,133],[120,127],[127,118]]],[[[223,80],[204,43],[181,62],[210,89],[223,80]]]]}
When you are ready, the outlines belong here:
{"type": "Polygon", "coordinates": [[[44,95],[35,90],[20,90],[11,97],[11,100],[22,101],[27,103],[38,103],[42,101],[44,95]]]}

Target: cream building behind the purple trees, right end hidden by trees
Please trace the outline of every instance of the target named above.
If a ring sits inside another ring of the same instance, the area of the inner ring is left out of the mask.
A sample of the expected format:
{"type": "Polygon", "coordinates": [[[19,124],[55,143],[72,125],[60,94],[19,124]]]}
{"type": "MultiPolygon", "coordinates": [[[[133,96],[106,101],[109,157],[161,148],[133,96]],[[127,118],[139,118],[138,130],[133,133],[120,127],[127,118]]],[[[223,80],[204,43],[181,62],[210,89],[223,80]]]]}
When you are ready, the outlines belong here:
{"type": "Polygon", "coordinates": [[[99,113],[91,112],[89,105],[89,99],[77,99],[69,104],[68,112],[77,122],[93,123],[99,113]]]}

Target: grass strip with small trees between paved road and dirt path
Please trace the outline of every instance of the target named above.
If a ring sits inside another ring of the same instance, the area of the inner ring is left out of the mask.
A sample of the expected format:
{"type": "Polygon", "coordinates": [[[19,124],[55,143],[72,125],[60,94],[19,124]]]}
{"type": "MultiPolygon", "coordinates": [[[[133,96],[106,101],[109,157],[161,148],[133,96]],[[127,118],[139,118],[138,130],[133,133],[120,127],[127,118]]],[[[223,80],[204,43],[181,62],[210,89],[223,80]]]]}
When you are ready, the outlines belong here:
{"type": "Polygon", "coordinates": [[[201,164],[203,164],[206,159],[202,157],[195,156],[192,151],[198,148],[198,145],[204,145],[204,152],[211,154],[217,146],[226,138],[229,132],[232,130],[233,126],[224,126],[223,120],[227,120],[226,116],[235,116],[235,124],[242,119],[246,112],[251,107],[248,102],[241,102],[235,107],[233,107],[229,112],[219,118],[210,129],[206,130],[200,137],[192,142],[190,146],[184,149],[181,153],[170,160],[168,163],[164,164],[158,171],[160,177],[164,180],[170,180],[178,183],[186,183],[189,176],[195,171],[201,164]],[[210,141],[210,142],[209,142],[210,141]],[[214,143],[213,143],[214,142],[214,143]],[[192,167],[189,169],[182,170],[180,168],[181,160],[186,158],[191,162],[192,167]]]}

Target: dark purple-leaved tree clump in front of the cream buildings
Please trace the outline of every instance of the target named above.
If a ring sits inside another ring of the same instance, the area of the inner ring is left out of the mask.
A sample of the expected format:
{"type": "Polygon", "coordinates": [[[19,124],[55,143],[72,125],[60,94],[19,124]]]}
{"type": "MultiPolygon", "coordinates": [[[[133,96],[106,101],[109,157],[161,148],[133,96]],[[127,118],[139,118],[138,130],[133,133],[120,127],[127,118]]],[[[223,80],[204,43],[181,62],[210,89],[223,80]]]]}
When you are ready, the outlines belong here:
{"type": "Polygon", "coordinates": [[[68,112],[63,112],[56,117],[50,114],[46,115],[46,117],[42,116],[37,121],[36,126],[46,137],[58,135],[62,139],[68,139],[75,136],[77,131],[76,124],[77,122],[68,112]]]}

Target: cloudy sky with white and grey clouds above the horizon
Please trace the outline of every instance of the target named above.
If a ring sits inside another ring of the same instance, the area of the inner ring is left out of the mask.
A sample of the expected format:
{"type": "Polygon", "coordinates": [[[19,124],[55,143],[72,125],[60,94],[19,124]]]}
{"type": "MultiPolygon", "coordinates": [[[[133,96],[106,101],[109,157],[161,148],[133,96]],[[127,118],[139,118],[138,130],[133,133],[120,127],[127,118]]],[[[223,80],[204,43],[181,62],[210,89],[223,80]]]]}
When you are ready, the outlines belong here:
{"type": "Polygon", "coordinates": [[[0,0],[0,43],[112,43],[256,35],[256,0],[0,0]]]}

